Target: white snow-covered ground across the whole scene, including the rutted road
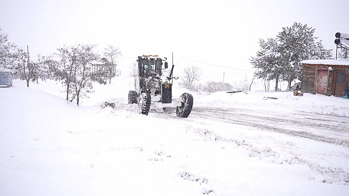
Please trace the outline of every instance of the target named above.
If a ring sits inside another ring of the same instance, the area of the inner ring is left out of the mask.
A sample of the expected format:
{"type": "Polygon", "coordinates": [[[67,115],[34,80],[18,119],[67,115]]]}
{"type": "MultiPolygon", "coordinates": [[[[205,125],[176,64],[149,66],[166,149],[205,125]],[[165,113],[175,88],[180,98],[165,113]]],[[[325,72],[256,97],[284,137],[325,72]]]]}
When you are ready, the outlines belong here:
{"type": "Polygon", "coordinates": [[[0,196],[349,195],[349,99],[192,92],[188,118],[145,116],[132,85],[80,106],[54,81],[0,88],[0,196]]]}

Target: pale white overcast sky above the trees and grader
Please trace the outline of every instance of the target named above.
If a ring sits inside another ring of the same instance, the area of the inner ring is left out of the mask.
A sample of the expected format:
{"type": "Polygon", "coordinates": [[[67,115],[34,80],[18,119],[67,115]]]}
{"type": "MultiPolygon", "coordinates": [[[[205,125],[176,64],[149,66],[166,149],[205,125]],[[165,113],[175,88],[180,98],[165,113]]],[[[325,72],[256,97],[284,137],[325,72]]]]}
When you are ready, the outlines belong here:
{"type": "Polygon", "coordinates": [[[335,51],[335,33],[349,33],[348,11],[348,0],[1,0],[0,26],[31,56],[96,43],[120,47],[123,57],[173,52],[178,67],[251,70],[258,39],[294,22],[335,51]]]}

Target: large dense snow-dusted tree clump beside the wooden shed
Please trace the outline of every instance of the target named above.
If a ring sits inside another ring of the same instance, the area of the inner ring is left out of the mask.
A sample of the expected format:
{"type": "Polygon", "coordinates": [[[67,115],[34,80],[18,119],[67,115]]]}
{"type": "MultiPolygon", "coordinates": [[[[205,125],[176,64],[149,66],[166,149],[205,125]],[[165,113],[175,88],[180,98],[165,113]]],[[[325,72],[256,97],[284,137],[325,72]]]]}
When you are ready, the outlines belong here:
{"type": "Polygon", "coordinates": [[[327,50],[322,45],[322,40],[314,37],[314,28],[307,25],[294,23],[291,27],[282,28],[276,38],[267,40],[259,39],[260,50],[250,62],[256,69],[255,76],[267,81],[288,82],[287,90],[291,83],[302,76],[302,60],[331,59],[332,50],[327,50]]]}

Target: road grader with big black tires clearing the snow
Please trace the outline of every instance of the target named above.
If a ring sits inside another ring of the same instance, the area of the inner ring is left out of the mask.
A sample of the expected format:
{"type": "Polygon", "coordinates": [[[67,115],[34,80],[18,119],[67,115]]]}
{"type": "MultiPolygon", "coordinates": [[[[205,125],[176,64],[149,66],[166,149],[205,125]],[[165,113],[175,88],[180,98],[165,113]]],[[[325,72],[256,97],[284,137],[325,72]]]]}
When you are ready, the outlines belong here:
{"type": "Polygon", "coordinates": [[[183,93],[178,98],[172,97],[171,81],[178,77],[172,77],[174,65],[169,76],[162,76],[162,70],[168,68],[166,58],[164,59],[157,55],[138,56],[136,90],[129,91],[128,103],[138,104],[140,114],[148,115],[150,110],[167,113],[175,111],[178,117],[186,118],[193,107],[193,96],[183,93]],[[162,67],[163,64],[165,68],[162,67]]]}

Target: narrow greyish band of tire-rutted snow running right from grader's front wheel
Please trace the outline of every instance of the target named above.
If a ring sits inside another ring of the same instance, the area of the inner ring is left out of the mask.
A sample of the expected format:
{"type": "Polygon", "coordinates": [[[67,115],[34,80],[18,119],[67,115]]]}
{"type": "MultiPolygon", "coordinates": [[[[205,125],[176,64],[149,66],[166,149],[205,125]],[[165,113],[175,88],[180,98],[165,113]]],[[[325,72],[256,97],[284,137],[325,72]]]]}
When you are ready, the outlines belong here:
{"type": "Polygon", "coordinates": [[[193,107],[191,115],[349,147],[348,117],[206,107],[193,107]]]}

